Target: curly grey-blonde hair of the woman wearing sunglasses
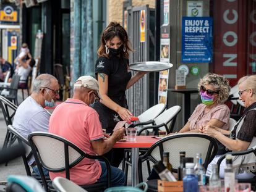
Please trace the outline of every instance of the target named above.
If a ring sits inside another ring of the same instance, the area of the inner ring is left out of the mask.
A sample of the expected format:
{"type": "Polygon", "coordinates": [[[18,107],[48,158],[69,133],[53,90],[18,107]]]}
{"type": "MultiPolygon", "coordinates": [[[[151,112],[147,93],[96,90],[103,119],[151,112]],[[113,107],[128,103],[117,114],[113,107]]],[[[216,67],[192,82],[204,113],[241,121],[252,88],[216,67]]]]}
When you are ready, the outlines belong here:
{"type": "Polygon", "coordinates": [[[231,87],[229,86],[229,81],[226,77],[218,75],[215,73],[207,73],[203,78],[200,79],[198,83],[198,90],[200,87],[205,85],[212,85],[216,91],[219,91],[217,103],[224,103],[229,97],[229,91],[231,87]]]}

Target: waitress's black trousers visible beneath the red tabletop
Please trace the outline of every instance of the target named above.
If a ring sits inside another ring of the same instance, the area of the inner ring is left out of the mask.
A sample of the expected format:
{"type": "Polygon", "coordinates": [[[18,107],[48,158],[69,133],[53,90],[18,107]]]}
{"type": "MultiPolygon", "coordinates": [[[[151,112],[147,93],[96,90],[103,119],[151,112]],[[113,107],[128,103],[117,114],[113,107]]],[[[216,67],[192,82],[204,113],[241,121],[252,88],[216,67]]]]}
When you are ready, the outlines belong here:
{"type": "Polygon", "coordinates": [[[108,159],[108,161],[113,167],[119,167],[122,159],[124,158],[124,149],[113,148],[103,156],[105,156],[108,159]]]}

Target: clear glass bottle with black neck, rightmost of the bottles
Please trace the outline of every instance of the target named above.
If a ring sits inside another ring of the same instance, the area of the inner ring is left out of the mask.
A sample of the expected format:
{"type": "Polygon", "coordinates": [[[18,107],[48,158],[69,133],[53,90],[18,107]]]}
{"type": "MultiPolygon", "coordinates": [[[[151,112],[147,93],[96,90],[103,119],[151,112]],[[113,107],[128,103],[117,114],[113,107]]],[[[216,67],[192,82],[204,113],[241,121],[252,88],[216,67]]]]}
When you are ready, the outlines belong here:
{"type": "Polygon", "coordinates": [[[225,192],[234,192],[235,173],[232,166],[232,155],[226,155],[226,168],[224,169],[225,192]]]}

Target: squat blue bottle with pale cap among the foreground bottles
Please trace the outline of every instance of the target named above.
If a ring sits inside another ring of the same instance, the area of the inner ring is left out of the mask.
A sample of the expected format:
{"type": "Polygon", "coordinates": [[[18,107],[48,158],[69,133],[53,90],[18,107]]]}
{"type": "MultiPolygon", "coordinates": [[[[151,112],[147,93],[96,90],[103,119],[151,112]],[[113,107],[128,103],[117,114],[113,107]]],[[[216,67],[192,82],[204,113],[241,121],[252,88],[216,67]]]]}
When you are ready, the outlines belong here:
{"type": "Polygon", "coordinates": [[[194,164],[186,163],[186,176],[183,178],[183,191],[184,192],[197,192],[198,179],[194,174],[194,164]]]}

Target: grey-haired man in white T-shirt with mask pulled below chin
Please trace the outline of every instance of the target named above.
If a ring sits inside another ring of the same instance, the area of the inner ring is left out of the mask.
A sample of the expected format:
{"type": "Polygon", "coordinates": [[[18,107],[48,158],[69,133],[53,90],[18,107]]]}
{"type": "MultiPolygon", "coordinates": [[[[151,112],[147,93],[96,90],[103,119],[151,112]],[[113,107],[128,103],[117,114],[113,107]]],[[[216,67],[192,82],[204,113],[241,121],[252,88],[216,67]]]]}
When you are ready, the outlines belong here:
{"type": "MultiPolygon", "coordinates": [[[[48,131],[49,113],[45,107],[53,107],[56,99],[59,99],[58,80],[49,74],[41,74],[33,82],[32,94],[28,96],[18,107],[13,126],[22,136],[28,138],[33,131],[48,131]]],[[[32,157],[28,161],[33,171],[40,175],[32,157]]],[[[47,170],[43,170],[48,175],[47,170]]]]}

